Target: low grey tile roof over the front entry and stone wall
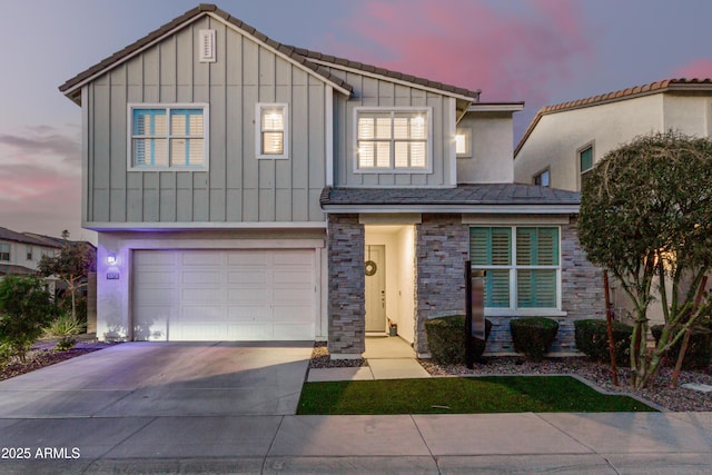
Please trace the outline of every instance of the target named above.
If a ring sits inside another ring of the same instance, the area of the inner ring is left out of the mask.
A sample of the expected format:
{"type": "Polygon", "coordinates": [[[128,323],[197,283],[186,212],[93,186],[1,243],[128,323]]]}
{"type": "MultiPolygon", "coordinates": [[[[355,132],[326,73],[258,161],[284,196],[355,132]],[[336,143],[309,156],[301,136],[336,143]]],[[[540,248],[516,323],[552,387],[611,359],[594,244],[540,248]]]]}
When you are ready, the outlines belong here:
{"type": "Polygon", "coordinates": [[[525,184],[457,185],[456,188],[333,188],[322,206],[345,205],[580,205],[581,194],[525,184]]]}

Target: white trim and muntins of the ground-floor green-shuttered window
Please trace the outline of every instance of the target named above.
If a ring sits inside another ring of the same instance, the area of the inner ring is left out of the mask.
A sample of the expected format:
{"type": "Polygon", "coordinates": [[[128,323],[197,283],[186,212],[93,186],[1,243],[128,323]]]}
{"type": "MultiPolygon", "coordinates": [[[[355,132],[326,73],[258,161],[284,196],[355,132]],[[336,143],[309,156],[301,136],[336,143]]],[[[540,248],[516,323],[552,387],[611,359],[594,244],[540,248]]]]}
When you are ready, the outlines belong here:
{"type": "Polygon", "coordinates": [[[476,225],[468,226],[468,247],[467,258],[471,259],[469,249],[472,240],[469,238],[469,229],[472,228],[508,228],[510,234],[510,264],[508,265],[490,265],[490,266],[475,266],[473,268],[484,270],[508,270],[510,271],[510,306],[508,307],[484,307],[485,316],[565,316],[566,313],[562,309],[562,227],[556,225],[476,225]],[[517,265],[516,264],[516,230],[517,228],[555,228],[558,238],[558,264],[557,265],[517,265]],[[556,306],[555,307],[518,307],[517,296],[517,270],[536,270],[536,269],[553,269],[556,270],[556,306]]]}

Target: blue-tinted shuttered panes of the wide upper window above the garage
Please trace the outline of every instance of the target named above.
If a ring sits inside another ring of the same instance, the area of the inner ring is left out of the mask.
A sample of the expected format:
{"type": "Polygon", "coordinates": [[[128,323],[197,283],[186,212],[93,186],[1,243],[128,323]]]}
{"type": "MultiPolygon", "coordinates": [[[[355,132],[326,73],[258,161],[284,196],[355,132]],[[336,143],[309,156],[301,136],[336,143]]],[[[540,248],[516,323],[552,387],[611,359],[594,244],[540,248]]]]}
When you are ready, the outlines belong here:
{"type": "Polygon", "coordinates": [[[129,108],[131,168],[207,168],[207,105],[129,108]]]}

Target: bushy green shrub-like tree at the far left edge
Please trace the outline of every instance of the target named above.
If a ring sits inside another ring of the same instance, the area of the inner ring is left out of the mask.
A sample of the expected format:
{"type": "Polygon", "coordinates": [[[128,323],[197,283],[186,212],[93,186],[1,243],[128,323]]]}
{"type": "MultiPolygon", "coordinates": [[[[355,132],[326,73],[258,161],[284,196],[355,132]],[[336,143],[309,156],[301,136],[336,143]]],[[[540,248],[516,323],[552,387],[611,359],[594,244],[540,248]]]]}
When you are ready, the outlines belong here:
{"type": "Polygon", "coordinates": [[[39,277],[8,276],[0,281],[0,344],[22,362],[56,315],[52,297],[39,277]]]}

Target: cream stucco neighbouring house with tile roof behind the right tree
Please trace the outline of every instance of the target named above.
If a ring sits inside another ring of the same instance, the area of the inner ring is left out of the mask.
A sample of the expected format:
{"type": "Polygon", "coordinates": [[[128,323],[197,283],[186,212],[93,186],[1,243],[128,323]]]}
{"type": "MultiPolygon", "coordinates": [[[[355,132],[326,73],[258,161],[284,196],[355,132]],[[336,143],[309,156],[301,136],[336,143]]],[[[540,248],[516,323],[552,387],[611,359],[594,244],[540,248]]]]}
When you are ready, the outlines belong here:
{"type": "MultiPolygon", "coordinates": [[[[578,191],[609,151],[671,129],[712,135],[712,79],[666,79],[542,108],[515,149],[514,179],[578,191]]],[[[612,285],[616,315],[623,317],[631,303],[612,285]]],[[[659,307],[651,307],[653,321],[663,320],[659,307]]]]}

